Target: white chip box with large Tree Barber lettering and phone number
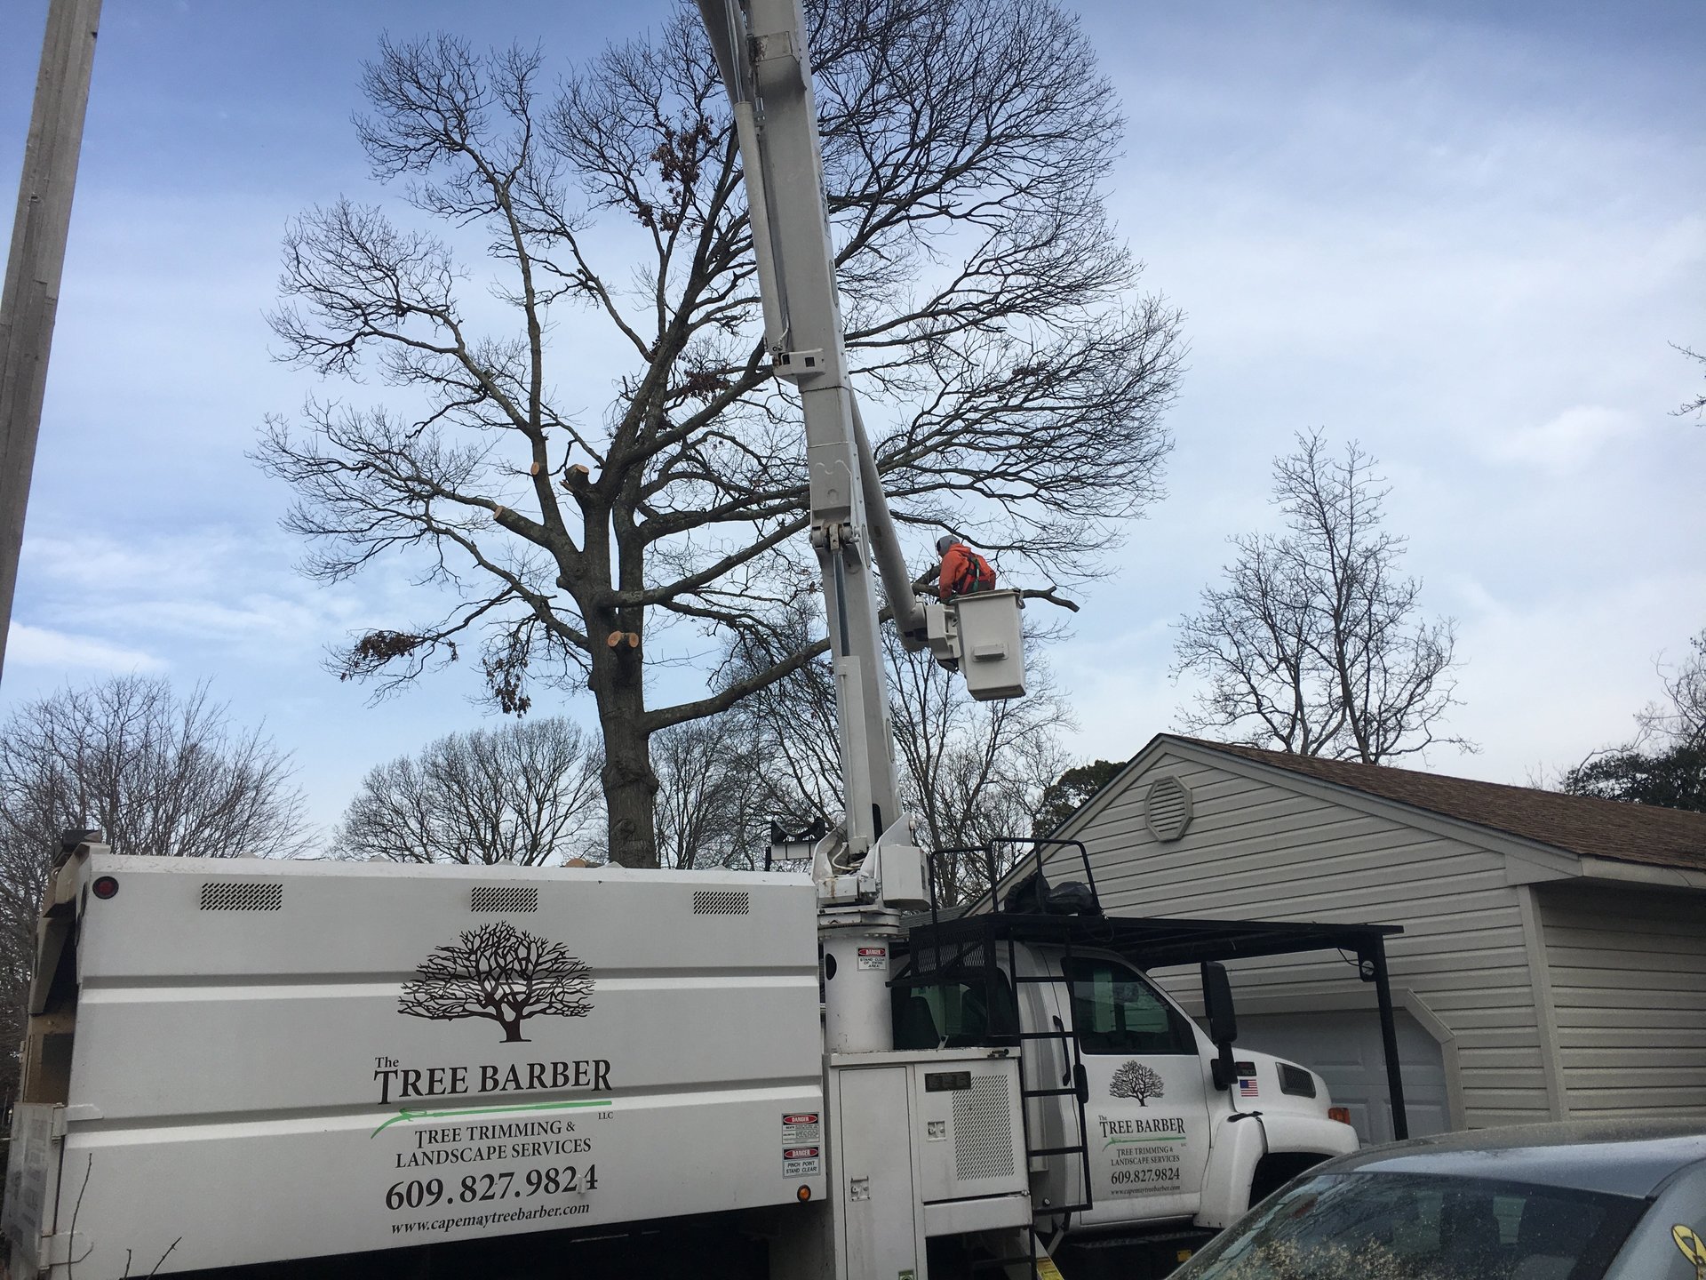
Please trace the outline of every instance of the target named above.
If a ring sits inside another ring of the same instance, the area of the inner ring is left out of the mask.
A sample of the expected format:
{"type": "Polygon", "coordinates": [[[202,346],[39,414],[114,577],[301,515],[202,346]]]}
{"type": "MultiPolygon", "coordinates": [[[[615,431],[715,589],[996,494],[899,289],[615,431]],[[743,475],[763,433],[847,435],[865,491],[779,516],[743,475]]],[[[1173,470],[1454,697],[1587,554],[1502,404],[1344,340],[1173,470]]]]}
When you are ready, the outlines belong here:
{"type": "Polygon", "coordinates": [[[805,876],[80,853],[60,889],[14,1268],[118,1280],[824,1196],[790,1157],[812,1143],[783,1142],[822,1111],[805,876]]]}

